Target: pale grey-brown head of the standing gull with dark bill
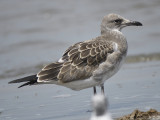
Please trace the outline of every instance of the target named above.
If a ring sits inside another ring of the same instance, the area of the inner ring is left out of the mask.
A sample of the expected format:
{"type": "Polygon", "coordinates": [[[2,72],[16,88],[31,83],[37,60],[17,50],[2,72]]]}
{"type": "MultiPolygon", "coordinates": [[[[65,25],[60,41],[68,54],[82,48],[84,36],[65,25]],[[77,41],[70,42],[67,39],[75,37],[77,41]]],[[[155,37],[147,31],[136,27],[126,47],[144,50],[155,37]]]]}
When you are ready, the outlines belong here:
{"type": "Polygon", "coordinates": [[[117,14],[109,14],[107,16],[104,16],[102,20],[101,32],[103,33],[106,30],[121,31],[122,28],[127,26],[142,26],[142,23],[125,19],[117,14]]]}

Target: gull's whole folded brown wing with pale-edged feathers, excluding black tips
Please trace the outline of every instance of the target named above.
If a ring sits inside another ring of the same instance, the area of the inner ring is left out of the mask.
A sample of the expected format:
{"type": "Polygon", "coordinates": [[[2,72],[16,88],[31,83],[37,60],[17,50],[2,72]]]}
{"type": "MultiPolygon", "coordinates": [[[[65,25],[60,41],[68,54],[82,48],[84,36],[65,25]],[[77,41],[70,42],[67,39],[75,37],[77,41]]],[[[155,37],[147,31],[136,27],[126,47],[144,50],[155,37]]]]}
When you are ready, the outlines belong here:
{"type": "Polygon", "coordinates": [[[114,52],[113,42],[100,36],[69,47],[63,54],[63,62],[55,62],[45,66],[37,74],[38,81],[59,80],[66,83],[83,80],[92,76],[98,66],[114,52]]]}

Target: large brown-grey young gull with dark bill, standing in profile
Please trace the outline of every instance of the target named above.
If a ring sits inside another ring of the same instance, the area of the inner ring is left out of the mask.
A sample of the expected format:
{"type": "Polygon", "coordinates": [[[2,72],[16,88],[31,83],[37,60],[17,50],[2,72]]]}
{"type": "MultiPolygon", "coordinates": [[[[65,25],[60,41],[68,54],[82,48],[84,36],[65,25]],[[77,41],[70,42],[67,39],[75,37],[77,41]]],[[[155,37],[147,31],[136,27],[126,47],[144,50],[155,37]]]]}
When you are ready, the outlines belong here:
{"type": "Polygon", "coordinates": [[[69,47],[57,62],[45,66],[36,75],[13,80],[9,83],[26,82],[26,85],[57,84],[81,90],[101,86],[113,76],[127,54],[127,41],[122,34],[126,26],[142,26],[140,22],[127,20],[117,14],[104,16],[101,23],[101,35],[91,40],[76,43],[69,47]]]}

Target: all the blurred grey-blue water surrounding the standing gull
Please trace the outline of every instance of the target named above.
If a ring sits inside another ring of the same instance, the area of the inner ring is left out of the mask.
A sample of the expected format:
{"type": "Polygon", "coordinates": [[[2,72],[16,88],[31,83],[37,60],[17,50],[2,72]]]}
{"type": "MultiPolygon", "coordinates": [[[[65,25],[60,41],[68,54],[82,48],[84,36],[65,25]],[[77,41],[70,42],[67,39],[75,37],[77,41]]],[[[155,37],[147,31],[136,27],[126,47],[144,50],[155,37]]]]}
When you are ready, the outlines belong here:
{"type": "Polygon", "coordinates": [[[70,45],[100,35],[101,20],[109,13],[143,23],[122,30],[128,58],[105,84],[109,111],[116,118],[135,108],[160,110],[159,10],[159,0],[0,0],[0,119],[88,119],[92,88],[17,89],[8,81],[35,74],[70,45]]]}

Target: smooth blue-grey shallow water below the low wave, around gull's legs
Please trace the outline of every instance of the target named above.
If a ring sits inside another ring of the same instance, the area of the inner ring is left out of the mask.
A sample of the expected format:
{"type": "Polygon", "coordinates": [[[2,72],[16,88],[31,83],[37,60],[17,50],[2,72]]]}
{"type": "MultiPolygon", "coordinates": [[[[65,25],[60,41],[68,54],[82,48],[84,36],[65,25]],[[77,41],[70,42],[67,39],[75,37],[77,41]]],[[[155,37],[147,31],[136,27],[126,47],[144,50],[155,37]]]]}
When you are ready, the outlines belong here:
{"type": "MultiPolygon", "coordinates": [[[[114,118],[134,109],[160,110],[160,62],[126,64],[105,84],[114,118]]],[[[0,81],[0,118],[3,120],[84,120],[91,115],[92,88],[72,91],[56,85],[7,85],[0,81]]],[[[99,88],[98,88],[99,90],[99,88]]],[[[100,92],[100,91],[99,91],[100,92]]]]}

